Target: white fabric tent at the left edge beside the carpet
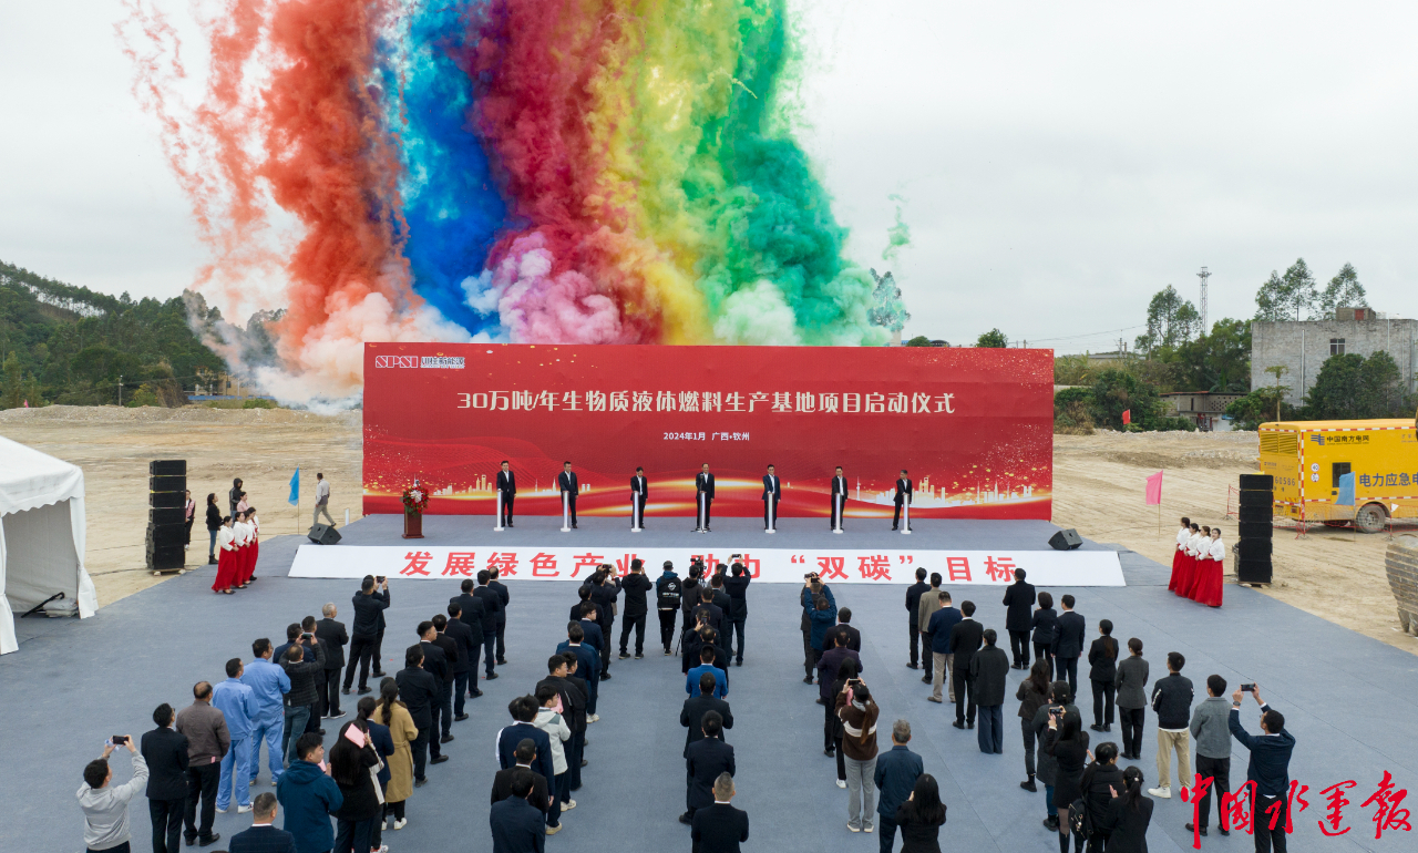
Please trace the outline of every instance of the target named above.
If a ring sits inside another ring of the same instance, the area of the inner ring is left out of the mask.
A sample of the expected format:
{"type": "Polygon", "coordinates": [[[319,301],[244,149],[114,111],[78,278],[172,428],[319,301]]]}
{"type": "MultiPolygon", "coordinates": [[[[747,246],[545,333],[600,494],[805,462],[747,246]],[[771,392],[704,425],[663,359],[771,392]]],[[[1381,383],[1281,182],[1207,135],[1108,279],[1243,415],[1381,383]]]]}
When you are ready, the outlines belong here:
{"type": "Polygon", "coordinates": [[[84,571],[84,472],[0,438],[0,655],[20,649],[14,614],[60,591],[81,619],[98,609],[84,571]]]}

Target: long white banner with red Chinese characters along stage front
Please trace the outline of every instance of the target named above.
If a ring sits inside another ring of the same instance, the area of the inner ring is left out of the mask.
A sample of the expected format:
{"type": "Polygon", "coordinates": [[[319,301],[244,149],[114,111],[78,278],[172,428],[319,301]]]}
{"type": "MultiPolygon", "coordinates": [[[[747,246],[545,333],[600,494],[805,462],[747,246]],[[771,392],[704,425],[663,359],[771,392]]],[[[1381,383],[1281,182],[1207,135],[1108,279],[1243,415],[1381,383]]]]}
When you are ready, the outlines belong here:
{"type": "Polygon", "coordinates": [[[801,584],[808,572],[845,584],[909,584],[916,570],[940,572],[946,584],[1005,585],[1014,570],[1027,570],[1031,584],[1046,587],[1124,587],[1116,551],[936,551],[875,548],[601,548],[601,547],[444,547],[444,546],[301,546],[292,578],[465,578],[498,570],[502,580],[584,580],[597,565],[610,564],[621,575],[641,560],[658,577],[666,560],[685,575],[689,563],[729,564],[733,554],[753,578],[769,584],[801,584]]]}

